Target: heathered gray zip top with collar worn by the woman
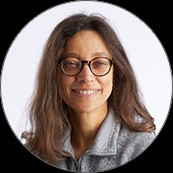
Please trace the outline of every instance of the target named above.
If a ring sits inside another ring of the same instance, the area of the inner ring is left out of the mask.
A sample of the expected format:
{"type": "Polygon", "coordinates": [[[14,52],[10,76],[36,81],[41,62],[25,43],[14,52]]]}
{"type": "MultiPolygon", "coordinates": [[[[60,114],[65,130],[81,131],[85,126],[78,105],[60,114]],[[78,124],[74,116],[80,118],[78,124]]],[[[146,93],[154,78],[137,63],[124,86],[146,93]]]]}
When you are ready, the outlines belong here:
{"type": "Polygon", "coordinates": [[[109,111],[92,146],[77,161],[71,145],[71,128],[64,135],[63,149],[71,157],[55,165],[70,172],[103,172],[115,169],[139,156],[155,135],[124,128],[113,111],[109,111]]]}

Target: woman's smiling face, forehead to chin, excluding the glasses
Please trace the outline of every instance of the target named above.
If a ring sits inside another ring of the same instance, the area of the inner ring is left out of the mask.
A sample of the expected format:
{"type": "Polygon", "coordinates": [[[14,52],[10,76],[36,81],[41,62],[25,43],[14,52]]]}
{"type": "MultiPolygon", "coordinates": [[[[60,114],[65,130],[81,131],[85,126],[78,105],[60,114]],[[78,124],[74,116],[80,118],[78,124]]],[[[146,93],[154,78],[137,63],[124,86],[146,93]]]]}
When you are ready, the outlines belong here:
{"type": "MultiPolygon", "coordinates": [[[[82,61],[105,56],[112,59],[103,39],[94,31],[80,31],[69,39],[64,55],[71,54],[82,61]]],[[[59,73],[61,96],[73,111],[91,112],[107,106],[113,87],[113,67],[102,77],[95,76],[87,65],[76,76],[67,76],[61,70],[59,73]]]]}

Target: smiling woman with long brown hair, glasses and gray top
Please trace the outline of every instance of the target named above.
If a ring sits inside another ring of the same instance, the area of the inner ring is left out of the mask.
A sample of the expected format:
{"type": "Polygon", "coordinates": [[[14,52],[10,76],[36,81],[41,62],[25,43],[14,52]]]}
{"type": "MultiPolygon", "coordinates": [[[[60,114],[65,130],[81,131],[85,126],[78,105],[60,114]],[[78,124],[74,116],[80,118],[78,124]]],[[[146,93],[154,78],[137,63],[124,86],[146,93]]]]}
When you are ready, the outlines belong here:
{"type": "Polygon", "coordinates": [[[25,146],[72,172],[119,167],[155,138],[125,50],[99,15],[74,14],[54,28],[29,108],[25,146]]]}

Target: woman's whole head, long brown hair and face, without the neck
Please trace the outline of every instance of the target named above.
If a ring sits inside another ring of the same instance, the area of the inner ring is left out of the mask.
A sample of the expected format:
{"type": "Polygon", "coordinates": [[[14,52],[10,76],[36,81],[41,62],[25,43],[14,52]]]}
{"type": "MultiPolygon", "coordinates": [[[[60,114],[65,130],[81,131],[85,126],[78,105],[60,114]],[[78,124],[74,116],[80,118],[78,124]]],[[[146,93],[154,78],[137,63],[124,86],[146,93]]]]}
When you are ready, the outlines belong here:
{"type": "Polygon", "coordinates": [[[68,110],[76,110],[76,105],[81,112],[111,106],[127,128],[148,132],[155,129],[153,118],[141,101],[125,50],[103,16],[75,14],[61,21],[52,31],[45,45],[30,104],[32,129],[26,146],[48,162],[57,159],[55,152],[64,155],[60,148],[61,138],[68,123],[68,110]],[[63,61],[67,57],[76,58],[74,62],[79,65],[79,71],[67,70],[69,61],[63,61]],[[110,62],[110,69],[105,70],[107,73],[96,70],[100,61],[93,63],[93,59],[98,57],[110,60],[104,61],[110,62]],[[136,114],[144,121],[136,123],[136,114]]]}

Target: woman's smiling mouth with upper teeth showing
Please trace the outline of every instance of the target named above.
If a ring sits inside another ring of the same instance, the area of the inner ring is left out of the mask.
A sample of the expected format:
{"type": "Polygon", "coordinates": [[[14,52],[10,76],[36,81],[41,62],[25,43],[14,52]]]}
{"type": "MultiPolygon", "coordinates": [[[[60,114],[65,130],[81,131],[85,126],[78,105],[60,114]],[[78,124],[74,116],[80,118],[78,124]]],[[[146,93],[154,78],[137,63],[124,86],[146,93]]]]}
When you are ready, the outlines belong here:
{"type": "Polygon", "coordinates": [[[99,91],[100,89],[72,89],[72,92],[80,96],[96,95],[99,91]]]}

